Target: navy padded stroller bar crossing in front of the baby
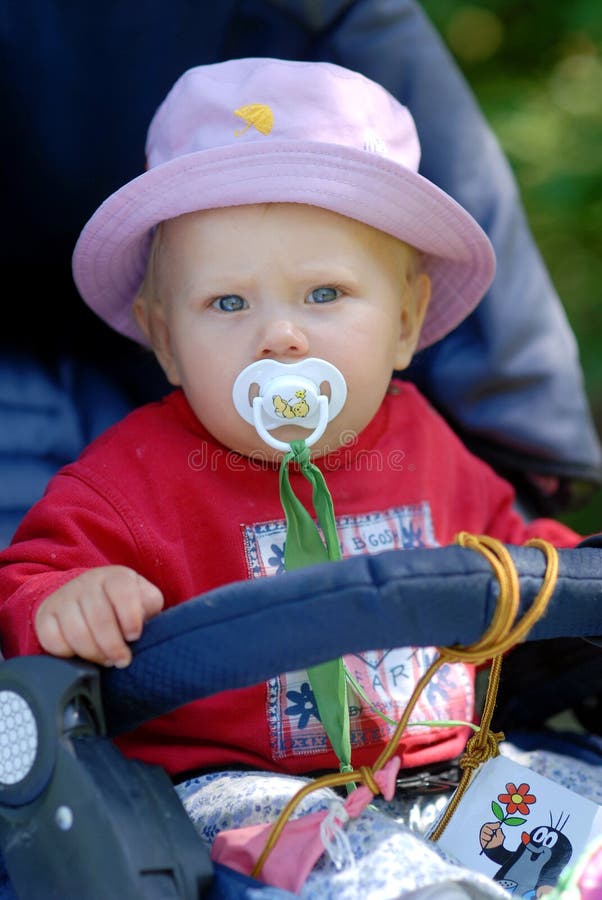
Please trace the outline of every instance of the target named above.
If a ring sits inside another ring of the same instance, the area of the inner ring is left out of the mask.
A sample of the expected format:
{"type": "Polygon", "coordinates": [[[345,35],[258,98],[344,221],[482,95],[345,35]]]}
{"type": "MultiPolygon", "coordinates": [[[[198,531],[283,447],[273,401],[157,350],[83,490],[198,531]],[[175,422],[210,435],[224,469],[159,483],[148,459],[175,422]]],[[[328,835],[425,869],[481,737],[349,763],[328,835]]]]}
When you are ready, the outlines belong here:
{"type": "MultiPolygon", "coordinates": [[[[524,612],[541,587],[545,558],[534,548],[509,549],[524,612]]],[[[554,595],[529,640],[598,634],[601,570],[599,548],[560,550],[554,595]]],[[[131,665],[103,671],[109,734],[343,653],[470,644],[491,621],[496,595],[489,563],[457,546],[357,556],[224,585],[148,622],[131,665]]]]}

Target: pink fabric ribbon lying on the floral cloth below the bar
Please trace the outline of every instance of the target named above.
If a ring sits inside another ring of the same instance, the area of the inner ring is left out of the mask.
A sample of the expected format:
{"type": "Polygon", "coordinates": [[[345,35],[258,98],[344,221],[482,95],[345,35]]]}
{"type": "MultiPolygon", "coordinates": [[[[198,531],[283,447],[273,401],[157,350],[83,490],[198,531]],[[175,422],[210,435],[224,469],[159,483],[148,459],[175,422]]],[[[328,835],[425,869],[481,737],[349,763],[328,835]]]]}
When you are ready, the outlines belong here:
{"type": "MultiPolygon", "coordinates": [[[[394,756],[382,769],[373,773],[385,800],[391,800],[395,794],[399,766],[400,759],[394,756]]],[[[343,804],[347,816],[356,819],[373,797],[373,792],[366,785],[358,787],[343,804]]],[[[293,893],[301,889],[324,853],[320,825],[328,814],[329,810],[324,809],[286,823],[261,871],[263,882],[293,893]]],[[[338,824],[344,823],[339,821],[338,824]]],[[[249,875],[265,847],[271,829],[272,824],[265,824],[221,831],[213,843],[211,858],[236,872],[249,875]]]]}

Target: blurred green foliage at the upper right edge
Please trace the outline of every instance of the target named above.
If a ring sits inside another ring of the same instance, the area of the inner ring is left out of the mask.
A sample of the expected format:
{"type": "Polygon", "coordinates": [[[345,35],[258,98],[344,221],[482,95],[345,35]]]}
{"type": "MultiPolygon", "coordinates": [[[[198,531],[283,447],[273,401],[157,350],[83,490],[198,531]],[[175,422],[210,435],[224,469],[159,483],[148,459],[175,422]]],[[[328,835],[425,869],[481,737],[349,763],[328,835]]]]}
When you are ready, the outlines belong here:
{"type": "MultiPolygon", "coordinates": [[[[602,0],[423,0],[512,165],[602,433],[602,0]]],[[[563,517],[602,531],[602,491],[563,517]]]]}

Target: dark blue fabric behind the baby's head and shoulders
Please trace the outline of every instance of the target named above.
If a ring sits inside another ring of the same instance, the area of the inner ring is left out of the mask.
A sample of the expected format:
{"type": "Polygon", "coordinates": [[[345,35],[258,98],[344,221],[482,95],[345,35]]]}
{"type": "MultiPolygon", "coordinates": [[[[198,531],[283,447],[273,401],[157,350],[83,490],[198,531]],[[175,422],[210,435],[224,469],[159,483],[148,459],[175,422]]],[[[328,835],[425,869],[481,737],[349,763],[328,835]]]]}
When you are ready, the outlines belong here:
{"type": "Polygon", "coordinates": [[[422,173],[472,212],[499,260],[477,311],[419,355],[409,376],[517,481],[525,472],[559,476],[565,500],[574,483],[598,483],[600,447],[572,331],[508,165],[417,3],[26,0],[9,4],[0,22],[10,123],[0,260],[5,282],[18,286],[0,336],[0,545],[57,468],[124,409],[167,389],[152,359],[77,297],[71,252],[100,202],[143,170],[148,123],[178,75],[251,55],[331,60],[409,106],[422,173]]]}

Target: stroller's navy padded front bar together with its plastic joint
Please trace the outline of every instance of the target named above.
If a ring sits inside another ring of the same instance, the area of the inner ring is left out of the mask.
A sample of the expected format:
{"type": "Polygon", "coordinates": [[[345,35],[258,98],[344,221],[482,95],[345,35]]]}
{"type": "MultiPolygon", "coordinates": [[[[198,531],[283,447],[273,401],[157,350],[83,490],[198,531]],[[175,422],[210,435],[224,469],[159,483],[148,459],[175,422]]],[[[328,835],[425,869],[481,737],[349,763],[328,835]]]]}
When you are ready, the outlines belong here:
{"type": "MultiPolygon", "coordinates": [[[[559,552],[548,614],[529,639],[600,632],[595,544],[559,552]]],[[[512,558],[523,612],[545,564],[533,548],[512,548],[512,558]]],[[[46,657],[4,663],[0,846],[15,894],[7,884],[0,896],[293,896],[212,865],[164,772],[126,760],[106,735],[385,640],[471,643],[491,621],[495,587],[488,562],[471,549],[391,551],[234,583],[175,607],[148,624],[127,670],[99,673],[46,657]],[[337,627],[318,628],[325,618],[337,627]],[[251,645],[249,629],[260,636],[251,645]]]]}

